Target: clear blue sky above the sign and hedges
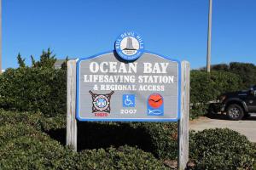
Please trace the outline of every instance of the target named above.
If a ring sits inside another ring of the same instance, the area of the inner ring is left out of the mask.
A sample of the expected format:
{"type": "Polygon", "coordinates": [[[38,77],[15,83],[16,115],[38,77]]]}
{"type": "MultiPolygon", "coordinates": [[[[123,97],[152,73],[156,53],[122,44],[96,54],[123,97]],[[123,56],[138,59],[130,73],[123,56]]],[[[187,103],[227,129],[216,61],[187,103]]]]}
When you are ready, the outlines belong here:
{"type": "MultiPolygon", "coordinates": [[[[212,64],[256,64],[256,1],[212,0],[212,64]]],[[[3,69],[16,56],[36,59],[51,48],[58,59],[113,49],[123,31],[145,48],[192,68],[206,65],[208,0],[3,0],[3,69]]]]}

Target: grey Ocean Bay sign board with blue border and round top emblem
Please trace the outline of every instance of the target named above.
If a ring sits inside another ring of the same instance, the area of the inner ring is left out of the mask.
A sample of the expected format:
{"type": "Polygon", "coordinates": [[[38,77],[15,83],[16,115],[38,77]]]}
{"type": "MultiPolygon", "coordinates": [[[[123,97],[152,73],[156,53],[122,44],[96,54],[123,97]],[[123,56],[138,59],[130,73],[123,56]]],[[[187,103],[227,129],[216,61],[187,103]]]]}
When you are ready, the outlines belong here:
{"type": "Polygon", "coordinates": [[[79,121],[177,121],[180,62],[144,50],[143,38],[125,32],[115,50],[77,61],[79,121]]]}

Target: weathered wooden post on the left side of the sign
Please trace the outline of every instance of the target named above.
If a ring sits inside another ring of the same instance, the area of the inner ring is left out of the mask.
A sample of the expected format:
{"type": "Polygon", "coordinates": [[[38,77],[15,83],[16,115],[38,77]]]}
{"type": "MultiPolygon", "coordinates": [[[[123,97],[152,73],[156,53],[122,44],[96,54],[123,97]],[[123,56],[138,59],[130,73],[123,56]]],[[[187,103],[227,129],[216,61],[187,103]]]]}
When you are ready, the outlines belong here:
{"type": "Polygon", "coordinates": [[[77,120],[76,120],[76,60],[67,61],[67,139],[66,144],[77,151],[77,120]]]}

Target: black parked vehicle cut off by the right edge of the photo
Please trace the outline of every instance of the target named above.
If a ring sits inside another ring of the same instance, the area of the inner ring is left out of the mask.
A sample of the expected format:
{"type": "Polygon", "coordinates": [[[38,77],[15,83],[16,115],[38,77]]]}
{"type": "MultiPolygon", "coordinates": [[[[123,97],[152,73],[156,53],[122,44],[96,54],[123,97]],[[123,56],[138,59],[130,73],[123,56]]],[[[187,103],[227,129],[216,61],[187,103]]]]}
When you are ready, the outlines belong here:
{"type": "Polygon", "coordinates": [[[222,94],[209,110],[211,114],[225,112],[230,120],[241,120],[249,113],[256,113],[256,85],[246,91],[222,94]]]}

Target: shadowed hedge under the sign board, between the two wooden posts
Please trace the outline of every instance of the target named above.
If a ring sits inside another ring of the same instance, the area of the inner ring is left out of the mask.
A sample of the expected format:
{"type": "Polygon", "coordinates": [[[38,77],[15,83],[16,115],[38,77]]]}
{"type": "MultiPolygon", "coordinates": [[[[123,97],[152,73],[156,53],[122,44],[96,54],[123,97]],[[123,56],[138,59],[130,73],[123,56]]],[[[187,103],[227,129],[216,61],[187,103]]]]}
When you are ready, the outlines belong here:
{"type": "Polygon", "coordinates": [[[79,122],[78,127],[83,129],[78,132],[79,150],[129,144],[160,159],[177,158],[177,123],[79,122]]]}

